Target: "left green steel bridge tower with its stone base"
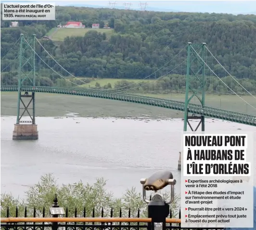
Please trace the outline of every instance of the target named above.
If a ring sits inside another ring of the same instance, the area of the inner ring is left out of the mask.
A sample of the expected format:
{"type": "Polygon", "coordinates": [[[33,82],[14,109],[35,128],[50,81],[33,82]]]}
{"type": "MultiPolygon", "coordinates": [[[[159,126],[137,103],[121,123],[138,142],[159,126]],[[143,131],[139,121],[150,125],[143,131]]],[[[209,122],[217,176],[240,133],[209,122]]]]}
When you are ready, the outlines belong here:
{"type": "Polygon", "coordinates": [[[35,119],[35,92],[29,93],[24,89],[25,86],[35,87],[35,41],[35,34],[26,37],[23,34],[20,35],[17,119],[16,124],[14,124],[13,140],[38,139],[35,119]],[[29,107],[31,102],[32,108],[29,107]],[[32,115],[29,110],[32,110],[32,115]],[[22,119],[25,113],[30,119],[22,119]]]}

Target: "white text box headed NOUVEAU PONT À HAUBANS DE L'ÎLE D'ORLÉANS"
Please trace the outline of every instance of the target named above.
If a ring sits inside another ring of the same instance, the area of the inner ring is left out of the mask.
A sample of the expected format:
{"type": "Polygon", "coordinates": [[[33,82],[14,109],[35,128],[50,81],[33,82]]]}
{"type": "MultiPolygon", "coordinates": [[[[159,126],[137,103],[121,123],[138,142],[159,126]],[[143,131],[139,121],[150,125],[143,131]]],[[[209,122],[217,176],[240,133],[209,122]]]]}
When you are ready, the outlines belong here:
{"type": "Polygon", "coordinates": [[[181,227],[253,228],[253,165],[253,133],[184,132],[181,227]]]}

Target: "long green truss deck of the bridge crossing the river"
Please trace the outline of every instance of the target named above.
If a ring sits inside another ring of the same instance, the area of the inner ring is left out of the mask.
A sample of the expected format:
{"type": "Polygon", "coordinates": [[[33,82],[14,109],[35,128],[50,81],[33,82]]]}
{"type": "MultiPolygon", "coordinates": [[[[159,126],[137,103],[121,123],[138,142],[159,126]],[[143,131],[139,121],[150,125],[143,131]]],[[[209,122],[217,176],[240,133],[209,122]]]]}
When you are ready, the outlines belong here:
{"type": "MultiPolygon", "coordinates": [[[[168,109],[184,111],[185,103],[167,99],[160,99],[154,97],[147,97],[141,95],[103,91],[103,90],[92,90],[92,89],[68,89],[68,88],[56,88],[56,87],[41,87],[41,86],[23,86],[22,91],[30,92],[45,92],[45,93],[60,93],[60,94],[71,94],[80,95],[87,97],[105,98],[111,100],[118,100],[124,102],[134,102],[141,104],[148,104],[153,106],[159,106],[168,109]]],[[[1,91],[18,91],[18,86],[1,86],[1,91]]],[[[236,113],[223,109],[217,109],[205,106],[202,108],[197,104],[189,104],[189,113],[196,115],[204,115],[208,117],[214,117],[222,120],[232,121],[236,123],[242,123],[250,126],[256,126],[256,116],[247,115],[242,113],[236,113]]]]}

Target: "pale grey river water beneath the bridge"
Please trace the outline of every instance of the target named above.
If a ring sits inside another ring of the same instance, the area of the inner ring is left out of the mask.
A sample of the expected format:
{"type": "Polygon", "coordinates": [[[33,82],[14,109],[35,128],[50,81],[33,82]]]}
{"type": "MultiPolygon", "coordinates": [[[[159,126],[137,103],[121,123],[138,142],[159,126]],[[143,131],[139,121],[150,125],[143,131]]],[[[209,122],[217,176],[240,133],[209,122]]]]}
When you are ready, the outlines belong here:
{"type": "MultiPolygon", "coordinates": [[[[140,179],[161,169],[173,172],[175,190],[180,191],[181,119],[37,117],[37,141],[13,141],[15,121],[14,116],[1,116],[1,193],[24,198],[40,176],[53,173],[60,185],[80,179],[92,184],[104,177],[106,188],[120,197],[132,186],[141,192],[140,179]]],[[[206,119],[205,129],[256,131],[216,119],[206,119]]]]}

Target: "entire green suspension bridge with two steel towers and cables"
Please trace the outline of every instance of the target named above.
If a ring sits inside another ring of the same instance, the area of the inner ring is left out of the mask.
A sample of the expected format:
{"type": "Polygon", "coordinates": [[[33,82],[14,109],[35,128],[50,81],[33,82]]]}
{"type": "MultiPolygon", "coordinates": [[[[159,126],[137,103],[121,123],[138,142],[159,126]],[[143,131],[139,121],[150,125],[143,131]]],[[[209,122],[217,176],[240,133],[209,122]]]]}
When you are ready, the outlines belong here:
{"type": "MultiPolygon", "coordinates": [[[[218,75],[211,69],[209,64],[207,64],[207,61],[205,60],[205,51],[208,51],[208,52],[210,51],[206,47],[205,43],[202,43],[202,44],[188,43],[187,46],[182,49],[182,51],[187,50],[187,53],[186,53],[187,57],[184,60],[186,61],[186,92],[185,92],[184,102],[160,99],[155,97],[147,97],[147,96],[137,95],[137,94],[129,94],[129,93],[126,93],[127,87],[120,87],[117,89],[103,89],[101,87],[91,86],[90,84],[84,82],[82,79],[74,76],[72,73],[64,69],[62,65],[59,64],[54,59],[50,51],[47,51],[44,48],[44,46],[40,43],[40,40],[36,38],[36,35],[25,36],[21,34],[20,38],[16,41],[16,43],[14,43],[13,47],[16,44],[19,45],[19,52],[16,53],[17,56],[13,60],[9,59],[9,62],[7,62],[5,68],[2,67],[1,87],[0,87],[1,91],[18,92],[17,119],[16,119],[16,124],[14,125],[13,139],[38,139],[38,129],[37,129],[37,124],[35,119],[35,116],[36,116],[35,94],[37,92],[96,97],[96,98],[103,98],[108,100],[141,103],[141,104],[147,104],[151,106],[158,106],[158,107],[183,111],[184,112],[184,127],[183,127],[184,131],[187,131],[187,125],[191,128],[192,131],[197,131],[198,128],[200,127],[200,124],[201,124],[201,130],[205,131],[205,117],[213,117],[213,118],[218,118],[218,119],[231,121],[235,123],[242,123],[250,126],[256,126],[255,115],[248,115],[244,113],[228,111],[228,110],[214,108],[214,107],[205,105],[206,69],[208,70],[207,73],[209,72],[212,73],[213,76],[217,77],[223,83],[223,85],[225,85],[225,87],[228,87],[230,89],[230,87],[220,77],[218,77],[218,75]],[[43,50],[45,53],[47,53],[47,56],[51,60],[51,63],[54,63],[54,65],[58,66],[59,69],[64,70],[66,74],[70,75],[71,77],[77,78],[79,81],[82,81],[84,84],[90,85],[90,87],[92,88],[89,89],[87,87],[78,85],[74,82],[72,82],[72,84],[74,85],[73,88],[44,87],[44,86],[36,85],[37,76],[38,76],[37,75],[38,62],[40,62],[40,64],[42,63],[45,64],[49,69],[51,69],[53,73],[58,75],[60,78],[64,78],[66,81],[70,81],[69,78],[64,77],[64,75],[60,74],[58,71],[55,71],[53,67],[51,67],[49,64],[46,63],[46,61],[43,60],[43,58],[38,54],[36,44],[39,46],[40,50],[43,50]],[[14,68],[11,68],[10,66],[14,60],[19,60],[19,63],[18,65],[16,64],[14,68]],[[2,76],[3,73],[5,73],[4,76],[2,76]],[[10,76],[10,74],[8,75],[8,73],[12,73],[13,75],[10,76]],[[191,103],[191,100],[194,97],[198,100],[197,104],[191,103]],[[24,98],[29,98],[30,99],[29,102],[25,103],[24,98]],[[31,109],[33,111],[32,115],[28,110],[31,102],[32,102],[31,109]],[[23,112],[21,113],[21,111],[23,112]],[[30,118],[30,119],[28,118],[29,120],[24,120],[25,113],[28,114],[27,117],[30,118]],[[199,124],[195,129],[192,128],[189,122],[190,119],[199,120],[199,124]]],[[[13,47],[11,48],[11,50],[13,49],[13,47]]],[[[9,51],[4,55],[2,59],[4,59],[8,53],[9,51]]],[[[181,51],[177,55],[179,55],[180,53],[181,51]]],[[[211,52],[210,54],[213,56],[211,52]]],[[[174,58],[176,58],[177,55],[174,56],[174,58]]],[[[171,59],[168,63],[170,63],[173,59],[171,59]]],[[[182,63],[184,63],[184,61],[182,63]]],[[[218,62],[217,59],[216,61],[218,62]]],[[[177,68],[177,66],[175,68],[177,68]]],[[[168,73],[170,73],[171,71],[169,71],[168,73]]],[[[164,76],[166,76],[166,74],[164,76]]],[[[161,76],[155,80],[157,81],[158,79],[164,76],[161,76]]],[[[147,77],[143,78],[142,80],[146,78],[147,77]]],[[[234,77],[232,78],[238,84],[240,84],[234,77]]],[[[130,85],[133,85],[133,84],[134,83],[130,85]]],[[[246,90],[241,84],[240,86],[249,95],[251,95],[256,99],[256,97],[252,95],[248,90],[246,90]]],[[[238,100],[243,101],[247,105],[251,106],[254,110],[256,110],[256,108],[253,105],[246,102],[234,90],[230,89],[230,91],[232,91],[232,93],[237,96],[238,100]]]]}

